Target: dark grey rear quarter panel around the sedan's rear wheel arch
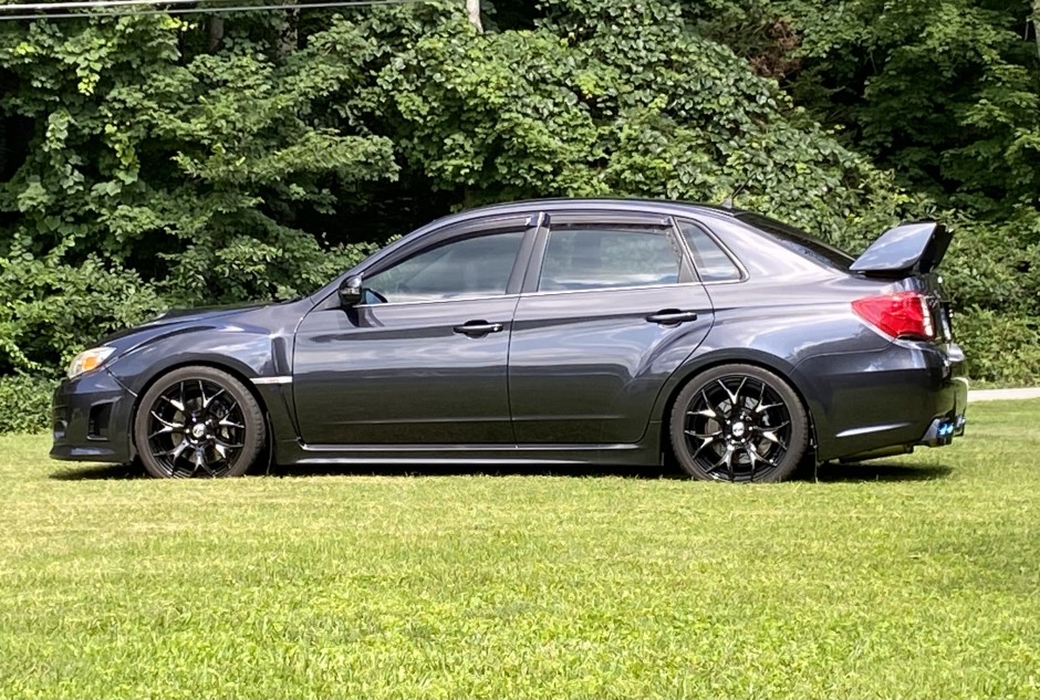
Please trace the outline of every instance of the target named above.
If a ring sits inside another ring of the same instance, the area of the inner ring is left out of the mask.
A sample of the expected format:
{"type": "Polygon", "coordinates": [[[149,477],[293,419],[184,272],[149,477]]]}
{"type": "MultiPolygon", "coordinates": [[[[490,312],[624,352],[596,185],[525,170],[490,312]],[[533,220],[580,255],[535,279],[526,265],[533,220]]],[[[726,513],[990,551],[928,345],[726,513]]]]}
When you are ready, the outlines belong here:
{"type": "Polygon", "coordinates": [[[743,362],[772,369],[799,393],[821,459],[872,449],[878,439],[878,431],[872,435],[875,428],[898,425],[906,436],[918,430],[921,417],[930,416],[919,404],[927,401],[928,386],[940,380],[936,358],[894,343],[865,324],[851,305],[862,296],[897,291],[901,283],[850,275],[737,221],[704,223],[748,275],[742,282],[706,285],[715,325],[663,393],[663,412],[691,376],[743,362]]]}

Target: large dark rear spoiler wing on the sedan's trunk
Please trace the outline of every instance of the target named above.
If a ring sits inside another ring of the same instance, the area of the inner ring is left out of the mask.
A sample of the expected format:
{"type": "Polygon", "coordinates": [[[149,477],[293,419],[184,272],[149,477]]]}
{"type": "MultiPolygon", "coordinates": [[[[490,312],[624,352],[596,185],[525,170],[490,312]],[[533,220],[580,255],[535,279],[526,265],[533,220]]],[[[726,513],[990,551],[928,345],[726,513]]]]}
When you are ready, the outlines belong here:
{"type": "Polygon", "coordinates": [[[935,221],[885,231],[849,269],[876,276],[927,274],[939,267],[954,234],[935,221]]]}

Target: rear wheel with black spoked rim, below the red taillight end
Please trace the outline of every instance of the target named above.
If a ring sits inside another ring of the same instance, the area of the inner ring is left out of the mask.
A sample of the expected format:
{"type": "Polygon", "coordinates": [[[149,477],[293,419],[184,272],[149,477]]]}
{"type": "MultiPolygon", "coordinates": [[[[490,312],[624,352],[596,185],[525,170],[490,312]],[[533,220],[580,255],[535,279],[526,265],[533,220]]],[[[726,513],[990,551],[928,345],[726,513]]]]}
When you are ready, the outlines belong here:
{"type": "Polygon", "coordinates": [[[809,416],[794,390],[753,365],[721,365],[689,380],[669,421],[686,473],[715,481],[790,477],[809,447],[809,416]]]}

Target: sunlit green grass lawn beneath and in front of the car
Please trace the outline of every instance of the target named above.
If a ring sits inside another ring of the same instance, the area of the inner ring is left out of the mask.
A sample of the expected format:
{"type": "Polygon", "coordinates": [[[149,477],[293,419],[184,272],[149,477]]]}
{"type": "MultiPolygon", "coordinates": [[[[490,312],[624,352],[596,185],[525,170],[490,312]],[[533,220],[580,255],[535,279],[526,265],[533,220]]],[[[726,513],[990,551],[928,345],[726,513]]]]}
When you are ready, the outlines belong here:
{"type": "Polygon", "coordinates": [[[735,487],[152,481],[0,438],[0,697],[1040,697],[1040,401],[735,487]]]}

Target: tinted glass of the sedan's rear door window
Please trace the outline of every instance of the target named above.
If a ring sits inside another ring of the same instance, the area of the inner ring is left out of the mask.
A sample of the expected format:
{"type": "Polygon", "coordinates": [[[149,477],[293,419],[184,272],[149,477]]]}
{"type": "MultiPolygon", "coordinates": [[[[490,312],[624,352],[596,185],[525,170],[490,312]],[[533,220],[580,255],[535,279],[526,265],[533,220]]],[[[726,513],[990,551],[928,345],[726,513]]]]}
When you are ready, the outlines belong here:
{"type": "Polygon", "coordinates": [[[564,224],[549,233],[538,289],[675,284],[680,262],[667,229],[564,224]]]}

